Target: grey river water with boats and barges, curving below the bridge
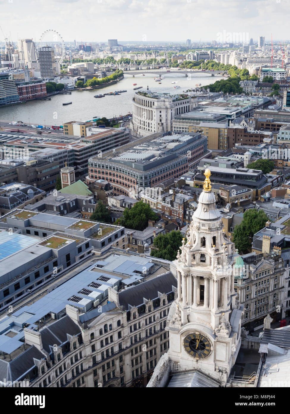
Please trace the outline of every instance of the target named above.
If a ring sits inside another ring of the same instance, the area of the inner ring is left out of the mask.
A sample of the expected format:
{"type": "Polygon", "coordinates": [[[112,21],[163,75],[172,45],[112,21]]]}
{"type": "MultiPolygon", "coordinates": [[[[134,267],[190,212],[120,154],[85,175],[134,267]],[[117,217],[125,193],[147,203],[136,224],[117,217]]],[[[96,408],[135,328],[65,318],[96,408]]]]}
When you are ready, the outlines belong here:
{"type": "MultiPolygon", "coordinates": [[[[137,71],[136,71],[137,72],[137,71]]],[[[158,71],[159,73],[161,71],[158,71]]],[[[131,71],[130,73],[135,74],[131,71]]],[[[138,72],[137,72],[138,73],[138,72]]],[[[211,77],[210,74],[185,74],[176,72],[164,71],[164,79],[161,84],[154,81],[156,74],[152,71],[146,72],[145,76],[125,74],[117,84],[109,85],[105,88],[95,89],[92,91],[72,91],[71,95],[55,95],[51,97],[51,101],[28,101],[14,106],[7,106],[7,108],[0,108],[0,120],[9,122],[22,120],[24,123],[32,124],[46,124],[46,125],[63,125],[64,122],[69,121],[86,121],[96,116],[112,118],[113,116],[125,115],[132,112],[132,96],[134,94],[133,83],[137,86],[142,86],[142,89],[147,89],[154,92],[169,92],[171,94],[182,93],[187,89],[192,89],[197,83],[201,86],[208,85],[222,78],[220,75],[211,77]],[[173,89],[175,81],[180,88],[173,89]],[[105,96],[103,98],[94,98],[94,95],[104,94],[110,91],[126,89],[120,95],[105,96]],[[72,102],[72,105],[63,106],[64,102],[72,102]]],[[[141,90],[141,89],[139,89],[141,90]]]]}

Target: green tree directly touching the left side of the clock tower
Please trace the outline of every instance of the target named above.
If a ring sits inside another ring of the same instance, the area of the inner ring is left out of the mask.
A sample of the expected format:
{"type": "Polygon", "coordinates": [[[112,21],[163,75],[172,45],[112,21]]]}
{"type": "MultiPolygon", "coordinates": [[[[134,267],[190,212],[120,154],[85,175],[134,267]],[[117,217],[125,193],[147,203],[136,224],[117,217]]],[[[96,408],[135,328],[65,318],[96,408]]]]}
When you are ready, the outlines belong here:
{"type": "Polygon", "coordinates": [[[158,234],[153,241],[153,246],[156,250],[151,249],[150,255],[164,260],[175,260],[177,251],[182,246],[182,238],[183,235],[180,230],[173,230],[166,234],[158,234]]]}

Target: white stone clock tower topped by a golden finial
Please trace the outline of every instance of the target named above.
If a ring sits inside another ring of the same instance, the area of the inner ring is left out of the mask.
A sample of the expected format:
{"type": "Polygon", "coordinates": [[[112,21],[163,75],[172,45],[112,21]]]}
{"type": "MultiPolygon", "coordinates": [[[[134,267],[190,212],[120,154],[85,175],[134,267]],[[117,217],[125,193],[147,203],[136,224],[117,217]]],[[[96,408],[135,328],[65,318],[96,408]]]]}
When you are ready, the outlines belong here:
{"type": "Polygon", "coordinates": [[[243,308],[234,290],[235,252],[223,231],[211,175],[206,169],[187,240],[170,270],[177,278],[177,298],[169,314],[170,369],[196,369],[227,381],[241,344],[243,308]]]}

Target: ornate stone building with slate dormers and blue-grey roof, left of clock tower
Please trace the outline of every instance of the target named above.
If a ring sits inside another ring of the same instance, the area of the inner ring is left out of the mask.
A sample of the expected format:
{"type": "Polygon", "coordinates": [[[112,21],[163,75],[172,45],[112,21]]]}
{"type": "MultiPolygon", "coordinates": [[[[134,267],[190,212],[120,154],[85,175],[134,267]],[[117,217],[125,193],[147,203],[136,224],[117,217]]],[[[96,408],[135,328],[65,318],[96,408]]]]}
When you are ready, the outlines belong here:
{"type": "MultiPolygon", "coordinates": [[[[1,337],[8,338],[0,345],[1,372],[11,371],[12,382],[98,388],[143,387],[150,380],[168,349],[175,277],[158,261],[129,255],[87,261],[83,269],[1,320],[1,337]]],[[[4,374],[0,382],[5,386],[4,374]]]]}

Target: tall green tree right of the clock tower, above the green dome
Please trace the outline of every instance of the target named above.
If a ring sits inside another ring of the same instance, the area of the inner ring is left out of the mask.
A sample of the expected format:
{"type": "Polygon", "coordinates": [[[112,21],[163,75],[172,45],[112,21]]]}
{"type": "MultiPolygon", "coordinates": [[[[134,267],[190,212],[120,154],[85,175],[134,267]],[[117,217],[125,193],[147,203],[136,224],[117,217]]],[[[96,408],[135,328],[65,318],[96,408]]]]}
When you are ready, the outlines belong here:
{"type": "Polygon", "coordinates": [[[251,239],[254,234],[265,227],[268,217],[264,210],[249,209],[244,212],[243,221],[235,226],[233,242],[240,253],[246,252],[251,247],[251,239]]]}

